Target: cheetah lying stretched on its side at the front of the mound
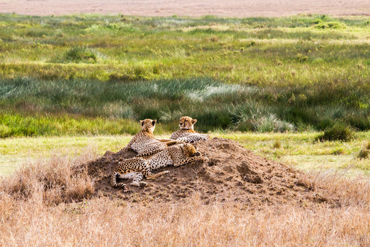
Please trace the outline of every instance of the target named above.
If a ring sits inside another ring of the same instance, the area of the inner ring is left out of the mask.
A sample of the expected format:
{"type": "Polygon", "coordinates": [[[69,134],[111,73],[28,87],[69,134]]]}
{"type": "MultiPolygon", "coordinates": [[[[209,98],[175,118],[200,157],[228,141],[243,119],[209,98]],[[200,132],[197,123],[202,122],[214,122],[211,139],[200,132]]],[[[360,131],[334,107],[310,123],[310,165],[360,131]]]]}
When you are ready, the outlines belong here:
{"type": "Polygon", "coordinates": [[[110,178],[110,185],[112,187],[121,187],[124,192],[128,191],[124,183],[117,183],[116,179],[119,178],[134,178],[130,185],[137,187],[145,186],[147,183],[141,181],[143,176],[147,179],[153,179],[163,174],[168,174],[169,171],[158,172],[153,174],[153,169],[167,167],[173,165],[178,167],[193,161],[208,161],[207,157],[201,156],[201,153],[195,150],[191,144],[175,145],[164,150],[153,150],[145,154],[138,154],[134,158],[129,158],[120,162],[120,165],[114,169],[110,178]],[[144,159],[147,158],[147,159],[144,159]]]}

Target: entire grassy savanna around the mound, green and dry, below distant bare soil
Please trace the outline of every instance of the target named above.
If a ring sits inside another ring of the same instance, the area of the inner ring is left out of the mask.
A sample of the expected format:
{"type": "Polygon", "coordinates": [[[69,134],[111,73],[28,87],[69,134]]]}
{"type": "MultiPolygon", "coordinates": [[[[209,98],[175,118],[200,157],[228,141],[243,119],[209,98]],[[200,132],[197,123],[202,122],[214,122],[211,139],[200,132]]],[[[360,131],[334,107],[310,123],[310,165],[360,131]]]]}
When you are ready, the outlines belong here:
{"type": "Polygon", "coordinates": [[[369,38],[365,16],[1,14],[1,245],[369,245],[369,38]],[[88,196],[82,164],[181,115],[316,174],[341,207],[88,196]]]}

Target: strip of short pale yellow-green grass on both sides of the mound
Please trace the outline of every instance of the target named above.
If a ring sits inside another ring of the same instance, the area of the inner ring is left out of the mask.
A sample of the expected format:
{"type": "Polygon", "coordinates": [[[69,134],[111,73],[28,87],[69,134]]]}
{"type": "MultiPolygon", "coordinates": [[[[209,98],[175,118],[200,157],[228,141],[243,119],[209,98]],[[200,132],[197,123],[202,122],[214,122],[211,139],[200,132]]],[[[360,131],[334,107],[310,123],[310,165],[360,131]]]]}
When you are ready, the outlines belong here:
{"type": "MultiPolygon", "coordinates": [[[[257,154],[292,165],[304,171],[321,170],[338,172],[347,176],[369,176],[369,158],[358,158],[363,143],[370,132],[356,133],[356,139],[341,141],[315,141],[318,132],[301,133],[225,133],[213,132],[211,137],[224,137],[238,141],[257,154]],[[275,142],[280,142],[280,148],[275,142]]],[[[169,134],[158,137],[168,137],[169,134]]],[[[129,135],[84,137],[18,137],[0,139],[0,175],[13,172],[20,165],[51,155],[76,156],[93,150],[101,156],[106,150],[114,152],[131,139],[129,135]]]]}

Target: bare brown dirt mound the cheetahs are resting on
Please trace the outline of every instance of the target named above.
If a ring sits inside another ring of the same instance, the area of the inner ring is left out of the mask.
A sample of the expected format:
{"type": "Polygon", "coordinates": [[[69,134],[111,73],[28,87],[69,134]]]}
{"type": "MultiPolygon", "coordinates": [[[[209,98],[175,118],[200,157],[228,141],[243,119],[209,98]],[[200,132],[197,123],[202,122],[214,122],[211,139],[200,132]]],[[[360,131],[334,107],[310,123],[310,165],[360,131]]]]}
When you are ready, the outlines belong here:
{"type": "MultiPolygon", "coordinates": [[[[198,192],[207,203],[243,202],[248,205],[330,202],[325,193],[314,186],[309,176],[284,164],[270,161],[246,150],[236,141],[214,138],[199,141],[195,146],[210,161],[193,162],[182,167],[166,167],[170,174],[146,180],[145,188],[130,187],[129,193],[110,187],[109,178],[118,161],[131,158],[135,152],[107,151],[104,156],[88,163],[88,173],[95,178],[95,193],[133,201],[182,200],[198,192]]],[[[131,181],[127,180],[127,185],[131,181]]]]}

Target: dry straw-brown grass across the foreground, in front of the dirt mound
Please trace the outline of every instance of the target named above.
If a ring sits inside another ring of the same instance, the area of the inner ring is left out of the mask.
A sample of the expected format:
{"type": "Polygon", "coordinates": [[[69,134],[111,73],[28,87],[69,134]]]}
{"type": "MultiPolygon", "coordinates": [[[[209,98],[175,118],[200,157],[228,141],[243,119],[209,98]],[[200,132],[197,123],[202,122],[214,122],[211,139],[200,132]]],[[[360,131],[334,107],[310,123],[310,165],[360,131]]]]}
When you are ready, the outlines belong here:
{"type": "MultiPolygon", "coordinates": [[[[24,167],[0,183],[1,246],[369,246],[369,180],[317,176],[341,207],[280,204],[251,209],[211,202],[134,203],[88,196],[81,164],[58,158],[24,167]],[[79,169],[80,172],[73,172],[79,169]],[[60,198],[59,198],[60,197],[60,198]],[[59,204],[56,204],[59,203],[59,204]]],[[[325,174],[324,174],[325,175],[325,174]]],[[[302,182],[303,183],[303,182],[302,182]]]]}

